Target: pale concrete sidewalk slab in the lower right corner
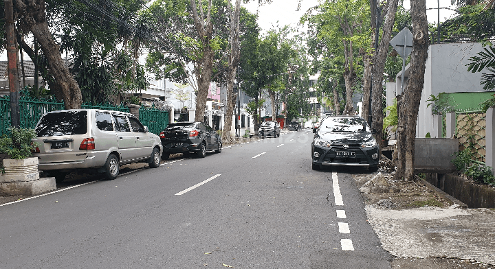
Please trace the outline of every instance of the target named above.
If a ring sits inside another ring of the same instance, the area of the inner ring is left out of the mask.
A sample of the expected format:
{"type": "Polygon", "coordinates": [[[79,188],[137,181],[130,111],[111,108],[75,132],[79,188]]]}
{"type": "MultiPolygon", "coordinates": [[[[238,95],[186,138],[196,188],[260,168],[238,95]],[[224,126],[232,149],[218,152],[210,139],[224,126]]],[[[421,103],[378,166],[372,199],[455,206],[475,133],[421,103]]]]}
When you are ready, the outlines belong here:
{"type": "Polygon", "coordinates": [[[457,257],[495,265],[495,211],[366,206],[385,250],[397,257],[457,257]]]}

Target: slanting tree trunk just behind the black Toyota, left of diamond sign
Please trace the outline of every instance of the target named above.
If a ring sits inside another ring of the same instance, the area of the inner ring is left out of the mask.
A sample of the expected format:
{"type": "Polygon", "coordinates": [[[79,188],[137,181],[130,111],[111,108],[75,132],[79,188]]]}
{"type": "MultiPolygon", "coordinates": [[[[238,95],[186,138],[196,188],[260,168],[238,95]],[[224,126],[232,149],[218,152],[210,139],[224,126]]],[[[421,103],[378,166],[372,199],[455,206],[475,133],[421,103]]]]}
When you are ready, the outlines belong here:
{"type": "MultiPolygon", "coordinates": [[[[388,11],[387,14],[395,14],[397,11],[397,2],[399,0],[388,0],[388,11]]],[[[371,90],[372,95],[372,108],[373,108],[373,124],[372,128],[376,131],[376,140],[380,145],[383,136],[383,73],[385,69],[386,56],[388,54],[388,46],[391,40],[392,28],[394,24],[395,16],[387,16],[385,24],[383,26],[382,40],[380,40],[380,45],[378,51],[375,52],[373,56],[373,67],[372,67],[372,77],[373,77],[373,89],[371,90]]],[[[422,84],[421,84],[422,86],[422,84]]],[[[382,156],[382,148],[379,147],[379,156],[382,156]]]]}

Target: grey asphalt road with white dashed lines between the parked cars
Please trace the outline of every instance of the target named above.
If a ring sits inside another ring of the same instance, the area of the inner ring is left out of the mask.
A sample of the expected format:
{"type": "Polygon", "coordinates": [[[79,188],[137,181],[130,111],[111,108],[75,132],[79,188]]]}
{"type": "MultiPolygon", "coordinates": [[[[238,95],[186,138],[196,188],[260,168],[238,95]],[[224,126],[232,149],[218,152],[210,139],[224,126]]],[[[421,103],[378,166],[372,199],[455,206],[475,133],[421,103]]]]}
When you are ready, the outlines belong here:
{"type": "Polygon", "coordinates": [[[0,268],[390,268],[307,130],[0,207],[0,268]]]}

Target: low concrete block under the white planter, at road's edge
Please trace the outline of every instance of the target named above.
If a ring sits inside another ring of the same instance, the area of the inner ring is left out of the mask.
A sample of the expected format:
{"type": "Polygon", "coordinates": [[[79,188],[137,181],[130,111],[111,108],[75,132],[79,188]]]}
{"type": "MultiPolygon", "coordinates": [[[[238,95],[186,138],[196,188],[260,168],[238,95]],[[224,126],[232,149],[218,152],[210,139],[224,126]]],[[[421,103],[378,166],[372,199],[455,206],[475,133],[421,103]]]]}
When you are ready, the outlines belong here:
{"type": "Polygon", "coordinates": [[[29,182],[0,183],[1,195],[32,196],[56,189],[55,178],[41,178],[29,182]]]}

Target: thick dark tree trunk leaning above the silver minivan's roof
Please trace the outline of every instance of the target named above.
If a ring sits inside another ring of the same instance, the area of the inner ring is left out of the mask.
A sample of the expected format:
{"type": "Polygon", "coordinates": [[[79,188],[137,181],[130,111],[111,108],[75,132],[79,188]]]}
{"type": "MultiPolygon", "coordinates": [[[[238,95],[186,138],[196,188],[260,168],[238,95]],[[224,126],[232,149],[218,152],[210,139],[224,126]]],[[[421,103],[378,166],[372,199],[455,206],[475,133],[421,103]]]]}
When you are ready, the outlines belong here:
{"type": "Polygon", "coordinates": [[[62,97],[65,108],[80,108],[83,103],[83,95],[69,68],[62,60],[59,45],[48,28],[45,16],[44,0],[14,0],[15,8],[19,12],[19,18],[25,27],[32,32],[34,38],[39,42],[45,57],[47,58],[50,73],[53,75],[58,87],[52,91],[56,96],[62,97]]]}

